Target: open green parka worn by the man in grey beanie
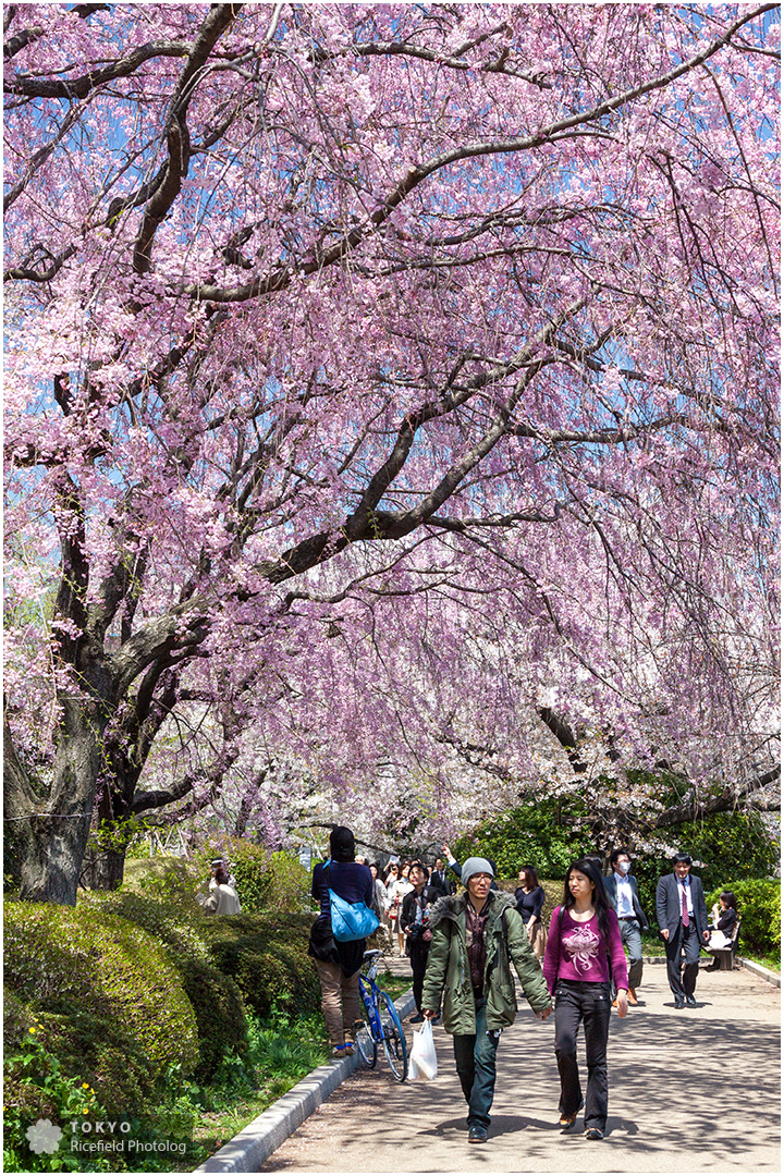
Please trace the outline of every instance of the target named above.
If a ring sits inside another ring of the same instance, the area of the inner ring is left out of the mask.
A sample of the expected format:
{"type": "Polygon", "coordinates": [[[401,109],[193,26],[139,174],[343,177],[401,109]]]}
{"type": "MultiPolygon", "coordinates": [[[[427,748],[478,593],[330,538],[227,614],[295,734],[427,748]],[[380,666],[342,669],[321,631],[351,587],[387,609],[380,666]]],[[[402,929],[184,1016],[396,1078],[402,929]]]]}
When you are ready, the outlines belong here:
{"type": "MultiPolygon", "coordinates": [[[[525,927],[512,900],[490,890],[490,911],[484,930],[484,994],[488,998],[488,1029],[505,1029],[517,1014],[515,977],[520,976],[528,1003],[535,1013],[551,1004],[540,963],[531,951],[525,927]]],[[[441,1008],[443,1027],[450,1034],[476,1033],[474,988],[465,947],[465,904],[468,893],[440,898],[430,909],[433,938],[424,974],[422,1008],[441,1008]]]]}

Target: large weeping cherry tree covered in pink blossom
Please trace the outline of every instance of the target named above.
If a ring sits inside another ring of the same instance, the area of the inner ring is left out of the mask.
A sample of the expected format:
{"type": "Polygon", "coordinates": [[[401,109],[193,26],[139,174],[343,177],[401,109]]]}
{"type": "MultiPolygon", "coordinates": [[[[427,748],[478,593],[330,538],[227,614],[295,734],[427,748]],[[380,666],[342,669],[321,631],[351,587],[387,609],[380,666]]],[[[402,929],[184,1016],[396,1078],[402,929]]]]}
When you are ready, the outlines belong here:
{"type": "Polygon", "coordinates": [[[532,779],[521,708],[773,770],[775,13],[6,7],[24,896],[256,721],[257,773],[383,730],[532,779]]]}

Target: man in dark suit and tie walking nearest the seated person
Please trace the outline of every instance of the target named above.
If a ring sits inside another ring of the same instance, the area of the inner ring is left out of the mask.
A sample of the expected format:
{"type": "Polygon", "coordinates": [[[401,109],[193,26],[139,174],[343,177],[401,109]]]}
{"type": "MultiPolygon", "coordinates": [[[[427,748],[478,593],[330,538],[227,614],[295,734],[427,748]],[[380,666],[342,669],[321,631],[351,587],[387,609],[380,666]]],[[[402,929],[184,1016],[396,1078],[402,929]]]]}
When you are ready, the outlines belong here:
{"type": "Polygon", "coordinates": [[[676,1009],[696,1005],[695,984],[699,970],[699,947],[708,943],[708,908],[698,877],[690,875],[689,854],[676,854],[672,874],[665,874],[656,887],[656,918],[666,950],[666,977],[675,996],[676,1009]],[[683,976],[681,957],[683,956],[683,976]]]}

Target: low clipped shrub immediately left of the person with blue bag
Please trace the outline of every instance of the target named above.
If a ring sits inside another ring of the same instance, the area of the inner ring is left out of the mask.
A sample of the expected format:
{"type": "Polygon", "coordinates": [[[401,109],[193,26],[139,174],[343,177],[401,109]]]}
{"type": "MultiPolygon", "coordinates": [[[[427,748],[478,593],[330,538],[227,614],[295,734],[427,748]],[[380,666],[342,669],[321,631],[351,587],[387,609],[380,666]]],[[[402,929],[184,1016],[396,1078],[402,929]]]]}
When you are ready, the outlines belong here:
{"type": "Polygon", "coordinates": [[[321,987],[308,956],[311,915],[234,915],[206,921],[210,956],[232,976],[254,1013],[276,1009],[307,1016],[321,1005],[321,987]]]}

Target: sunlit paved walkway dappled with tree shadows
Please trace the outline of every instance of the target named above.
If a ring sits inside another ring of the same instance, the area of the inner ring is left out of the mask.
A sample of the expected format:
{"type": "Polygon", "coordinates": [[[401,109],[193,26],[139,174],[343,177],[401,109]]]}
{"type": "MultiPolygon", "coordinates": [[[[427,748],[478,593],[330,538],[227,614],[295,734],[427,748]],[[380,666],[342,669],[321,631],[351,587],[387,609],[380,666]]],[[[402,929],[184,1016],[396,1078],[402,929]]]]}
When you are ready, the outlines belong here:
{"type": "Polygon", "coordinates": [[[380,1060],[375,1073],[344,1082],[260,1171],[779,1171],[779,990],[748,971],[701,973],[697,1008],[676,1011],[656,964],[645,967],[639,995],[624,1021],[612,1016],[601,1142],[583,1137],[582,1118],[571,1134],[558,1129],[552,1018],[542,1023],[521,1003],[498,1047],[487,1144],[467,1142],[451,1038],[437,1027],[434,1082],[400,1085],[380,1060]]]}

